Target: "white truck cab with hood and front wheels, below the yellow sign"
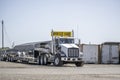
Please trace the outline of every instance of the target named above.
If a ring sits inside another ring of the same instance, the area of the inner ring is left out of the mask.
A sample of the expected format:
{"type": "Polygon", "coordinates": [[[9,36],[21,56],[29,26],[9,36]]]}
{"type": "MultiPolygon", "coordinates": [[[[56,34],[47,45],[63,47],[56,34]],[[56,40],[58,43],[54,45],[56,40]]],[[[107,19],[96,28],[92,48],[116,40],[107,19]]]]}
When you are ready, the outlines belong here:
{"type": "MultiPolygon", "coordinates": [[[[62,32],[68,34],[68,32],[62,32]]],[[[58,33],[60,34],[60,33],[58,33]]],[[[67,63],[74,63],[76,66],[83,66],[83,53],[80,52],[80,47],[75,44],[73,36],[54,36],[52,37],[54,65],[62,66],[67,63]]]]}

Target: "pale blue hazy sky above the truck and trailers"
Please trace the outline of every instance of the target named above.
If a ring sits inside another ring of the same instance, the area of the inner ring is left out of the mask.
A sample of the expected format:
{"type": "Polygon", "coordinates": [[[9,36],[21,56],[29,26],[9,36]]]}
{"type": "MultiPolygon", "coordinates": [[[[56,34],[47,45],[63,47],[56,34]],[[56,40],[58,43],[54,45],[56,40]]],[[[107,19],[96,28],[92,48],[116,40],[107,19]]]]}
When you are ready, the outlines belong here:
{"type": "Polygon", "coordinates": [[[120,42],[120,0],[0,0],[0,47],[51,40],[51,30],[74,30],[85,44],[120,42]]]}

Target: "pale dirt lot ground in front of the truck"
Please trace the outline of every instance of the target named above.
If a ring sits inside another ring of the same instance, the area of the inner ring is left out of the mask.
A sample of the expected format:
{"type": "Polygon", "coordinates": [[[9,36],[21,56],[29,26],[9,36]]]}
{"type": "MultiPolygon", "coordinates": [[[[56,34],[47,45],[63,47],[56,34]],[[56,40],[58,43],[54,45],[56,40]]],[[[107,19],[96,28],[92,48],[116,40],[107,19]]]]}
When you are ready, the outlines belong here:
{"type": "Polygon", "coordinates": [[[120,80],[120,65],[55,67],[0,61],[0,80],[120,80]]]}

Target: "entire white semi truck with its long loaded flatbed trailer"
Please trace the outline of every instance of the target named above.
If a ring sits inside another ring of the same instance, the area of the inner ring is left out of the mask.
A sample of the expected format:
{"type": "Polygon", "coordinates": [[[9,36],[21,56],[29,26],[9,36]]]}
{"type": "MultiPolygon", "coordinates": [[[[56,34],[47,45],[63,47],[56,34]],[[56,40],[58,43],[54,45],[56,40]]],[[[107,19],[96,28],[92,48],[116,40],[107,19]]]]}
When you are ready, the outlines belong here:
{"type": "Polygon", "coordinates": [[[74,31],[51,31],[52,40],[17,45],[13,52],[6,53],[7,61],[35,62],[38,65],[53,63],[63,66],[67,63],[83,66],[83,53],[80,51],[80,41],[75,43],[74,31]]]}

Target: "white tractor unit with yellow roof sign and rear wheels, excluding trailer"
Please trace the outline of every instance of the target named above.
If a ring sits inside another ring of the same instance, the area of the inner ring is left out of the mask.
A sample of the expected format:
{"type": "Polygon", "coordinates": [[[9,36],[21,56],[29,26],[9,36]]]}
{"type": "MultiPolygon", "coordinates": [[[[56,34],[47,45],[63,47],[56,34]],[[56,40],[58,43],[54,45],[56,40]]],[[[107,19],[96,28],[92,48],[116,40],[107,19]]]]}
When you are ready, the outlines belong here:
{"type": "Polygon", "coordinates": [[[47,65],[53,63],[55,66],[62,66],[73,63],[76,66],[83,66],[83,53],[80,52],[78,44],[75,44],[73,31],[52,31],[52,40],[40,43],[35,50],[38,51],[37,63],[47,65]]]}

